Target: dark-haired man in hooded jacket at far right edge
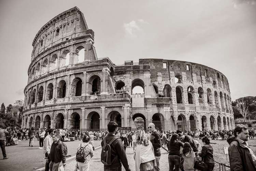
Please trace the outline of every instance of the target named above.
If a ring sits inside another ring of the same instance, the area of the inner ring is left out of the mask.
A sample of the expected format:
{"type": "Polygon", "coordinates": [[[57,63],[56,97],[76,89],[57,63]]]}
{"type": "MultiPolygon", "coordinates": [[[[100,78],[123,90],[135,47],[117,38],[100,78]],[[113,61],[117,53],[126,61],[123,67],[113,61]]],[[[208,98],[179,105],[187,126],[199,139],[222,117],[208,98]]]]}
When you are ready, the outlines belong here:
{"type": "Polygon", "coordinates": [[[256,157],[248,146],[248,140],[248,129],[242,124],[235,127],[234,137],[227,139],[231,171],[256,171],[256,157]]]}

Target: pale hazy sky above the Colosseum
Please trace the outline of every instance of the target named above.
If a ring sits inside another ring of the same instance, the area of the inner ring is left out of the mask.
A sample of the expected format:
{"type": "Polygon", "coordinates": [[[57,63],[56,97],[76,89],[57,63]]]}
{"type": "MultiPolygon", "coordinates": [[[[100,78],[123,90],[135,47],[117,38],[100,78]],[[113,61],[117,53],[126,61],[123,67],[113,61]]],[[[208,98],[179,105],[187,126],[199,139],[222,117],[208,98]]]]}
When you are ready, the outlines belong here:
{"type": "Polygon", "coordinates": [[[95,32],[98,58],[200,63],[227,77],[232,100],[256,96],[255,0],[1,0],[1,104],[24,100],[35,35],[74,6],[95,32]]]}

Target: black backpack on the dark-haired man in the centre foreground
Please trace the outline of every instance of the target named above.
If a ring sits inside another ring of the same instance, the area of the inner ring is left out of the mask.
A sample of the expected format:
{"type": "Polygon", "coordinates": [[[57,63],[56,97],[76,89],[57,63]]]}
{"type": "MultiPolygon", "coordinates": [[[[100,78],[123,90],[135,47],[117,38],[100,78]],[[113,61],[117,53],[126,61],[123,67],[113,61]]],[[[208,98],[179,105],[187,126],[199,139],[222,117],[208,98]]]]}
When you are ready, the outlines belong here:
{"type": "MultiPolygon", "coordinates": [[[[114,137],[108,144],[106,143],[106,137],[104,137],[104,145],[102,146],[101,150],[101,158],[100,161],[106,165],[109,166],[111,165],[111,147],[110,144],[112,144],[116,139],[120,139],[118,137],[114,137]]],[[[116,155],[117,156],[117,155],[116,155]]],[[[115,157],[116,157],[115,156],[115,157]]]]}

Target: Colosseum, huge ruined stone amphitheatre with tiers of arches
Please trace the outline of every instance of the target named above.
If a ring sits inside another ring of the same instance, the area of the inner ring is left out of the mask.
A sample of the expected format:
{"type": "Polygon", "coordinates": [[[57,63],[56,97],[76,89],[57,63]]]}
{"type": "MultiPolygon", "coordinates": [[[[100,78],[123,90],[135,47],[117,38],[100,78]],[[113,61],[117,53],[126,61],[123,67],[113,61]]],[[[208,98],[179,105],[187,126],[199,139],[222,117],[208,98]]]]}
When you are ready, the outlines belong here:
{"type": "Polygon", "coordinates": [[[229,83],[198,63],[139,59],[115,65],[98,58],[94,31],[74,7],[35,35],[22,127],[105,130],[234,128],[229,83]]]}

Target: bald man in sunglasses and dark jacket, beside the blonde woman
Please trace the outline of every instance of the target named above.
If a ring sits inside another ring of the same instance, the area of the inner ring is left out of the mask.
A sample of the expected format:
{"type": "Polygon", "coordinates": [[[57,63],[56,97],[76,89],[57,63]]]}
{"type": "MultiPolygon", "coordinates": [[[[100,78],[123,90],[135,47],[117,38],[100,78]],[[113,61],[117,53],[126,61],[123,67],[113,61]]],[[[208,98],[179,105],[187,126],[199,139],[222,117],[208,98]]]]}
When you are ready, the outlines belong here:
{"type": "Polygon", "coordinates": [[[160,134],[157,132],[156,128],[155,128],[155,124],[150,123],[148,124],[148,129],[149,131],[152,132],[151,136],[150,136],[150,142],[153,145],[154,148],[154,154],[155,154],[155,161],[156,161],[156,166],[154,166],[154,171],[159,171],[159,160],[161,157],[161,152],[160,152],[160,148],[161,148],[161,138],[160,138],[160,134]]]}

